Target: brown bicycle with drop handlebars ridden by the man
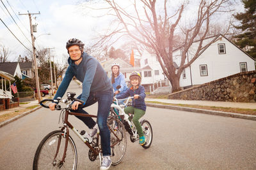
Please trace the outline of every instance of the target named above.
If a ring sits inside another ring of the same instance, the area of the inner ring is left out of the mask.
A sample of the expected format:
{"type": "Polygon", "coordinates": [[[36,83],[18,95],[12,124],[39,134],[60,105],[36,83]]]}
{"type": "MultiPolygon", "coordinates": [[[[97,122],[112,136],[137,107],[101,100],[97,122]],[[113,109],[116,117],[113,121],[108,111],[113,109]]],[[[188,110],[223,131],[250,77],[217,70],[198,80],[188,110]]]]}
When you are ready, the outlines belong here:
{"type": "MultiPolygon", "coordinates": [[[[88,148],[88,157],[91,161],[99,159],[102,160],[102,149],[100,145],[99,130],[92,140],[84,138],[79,134],[77,129],[68,122],[69,115],[76,115],[80,117],[93,117],[95,115],[86,115],[83,113],[71,112],[72,102],[81,100],[74,98],[76,93],[68,92],[67,99],[57,100],[44,99],[40,102],[45,108],[49,108],[47,104],[49,102],[65,103],[65,108],[61,108],[59,104],[56,105],[56,110],[60,110],[60,117],[62,117],[63,125],[58,131],[53,131],[47,134],[40,142],[35,157],[33,160],[33,169],[76,169],[77,167],[77,149],[74,140],[70,136],[70,129],[84,142],[88,148]]],[[[83,101],[82,101],[83,103],[83,101]]],[[[116,117],[108,118],[108,127],[110,131],[111,139],[111,160],[112,165],[119,164],[124,158],[127,139],[125,134],[125,128],[122,122],[116,117]],[[114,129],[117,127],[117,129],[114,129]]]]}

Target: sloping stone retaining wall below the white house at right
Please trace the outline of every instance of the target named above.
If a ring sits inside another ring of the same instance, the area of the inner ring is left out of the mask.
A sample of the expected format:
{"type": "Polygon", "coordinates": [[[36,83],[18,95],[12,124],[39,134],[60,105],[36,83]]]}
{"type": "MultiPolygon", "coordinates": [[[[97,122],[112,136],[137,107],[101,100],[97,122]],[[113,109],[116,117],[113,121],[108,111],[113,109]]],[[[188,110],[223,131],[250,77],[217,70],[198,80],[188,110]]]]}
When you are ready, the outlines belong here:
{"type": "Polygon", "coordinates": [[[256,71],[238,73],[168,95],[169,99],[256,102],[256,71]]]}

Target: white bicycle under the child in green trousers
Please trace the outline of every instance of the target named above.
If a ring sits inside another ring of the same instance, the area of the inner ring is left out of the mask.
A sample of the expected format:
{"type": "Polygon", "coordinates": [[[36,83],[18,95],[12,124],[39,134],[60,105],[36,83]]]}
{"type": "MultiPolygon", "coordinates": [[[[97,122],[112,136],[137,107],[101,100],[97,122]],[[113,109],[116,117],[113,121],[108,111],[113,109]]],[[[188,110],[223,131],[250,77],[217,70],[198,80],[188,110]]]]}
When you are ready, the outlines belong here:
{"type": "MultiPolygon", "coordinates": [[[[135,125],[133,124],[133,122],[129,121],[129,116],[124,112],[124,108],[125,106],[127,106],[127,104],[131,104],[129,103],[129,99],[132,99],[133,97],[128,97],[127,101],[124,104],[118,104],[119,100],[124,100],[124,99],[115,99],[114,97],[114,101],[111,104],[111,110],[110,110],[110,114],[109,114],[109,118],[115,118],[118,117],[118,119],[124,124],[125,130],[130,134],[130,139],[132,141],[132,143],[134,143],[135,141],[138,141],[138,139],[140,138],[138,133],[137,133],[137,129],[135,127],[135,125]]],[[[132,116],[132,115],[131,115],[132,116]]],[[[144,145],[141,145],[143,148],[149,148],[151,143],[152,143],[152,139],[153,139],[153,131],[152,131],[152,126],[150,125],[150,123],[148,122],[148,120],[142,119],[140,121],[144,136],[146,138],[146,143],[144,145]]],[[[118,129],[115,127],[115,129],[118,129]]],[[[114,129],[114,130],[115,130],[114,129]]]]}

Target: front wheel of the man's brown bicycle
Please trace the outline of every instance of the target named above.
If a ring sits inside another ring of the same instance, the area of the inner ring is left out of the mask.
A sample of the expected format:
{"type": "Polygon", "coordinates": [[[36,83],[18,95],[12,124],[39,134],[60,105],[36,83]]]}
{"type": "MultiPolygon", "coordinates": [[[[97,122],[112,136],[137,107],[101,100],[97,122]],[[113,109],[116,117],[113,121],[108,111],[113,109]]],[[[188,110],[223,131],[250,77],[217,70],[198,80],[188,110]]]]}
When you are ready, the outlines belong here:
{"type": "Polygon", "coordinates": [[[73,139],[68,136],[67,152],[65,162],[61,163],[65,150],[66,138],[63,131],[53,131],[39,144],[34,161],[33,169],[76,169],[77,150],[73,139]]]}

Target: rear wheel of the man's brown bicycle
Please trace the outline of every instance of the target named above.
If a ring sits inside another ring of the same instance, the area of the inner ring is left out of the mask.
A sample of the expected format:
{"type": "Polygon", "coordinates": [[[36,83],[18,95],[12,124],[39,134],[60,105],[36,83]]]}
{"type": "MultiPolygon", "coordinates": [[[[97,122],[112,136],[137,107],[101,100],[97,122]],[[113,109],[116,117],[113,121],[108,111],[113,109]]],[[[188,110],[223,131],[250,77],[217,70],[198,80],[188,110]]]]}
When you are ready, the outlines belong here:
{"type": "Polygon", "coordinates": [[[108,120],[111,142],[111,160],[112,165],[119,164],[126,151],[127,138],[124,125],[118,118],[110,118],[108,120]]]}

